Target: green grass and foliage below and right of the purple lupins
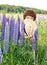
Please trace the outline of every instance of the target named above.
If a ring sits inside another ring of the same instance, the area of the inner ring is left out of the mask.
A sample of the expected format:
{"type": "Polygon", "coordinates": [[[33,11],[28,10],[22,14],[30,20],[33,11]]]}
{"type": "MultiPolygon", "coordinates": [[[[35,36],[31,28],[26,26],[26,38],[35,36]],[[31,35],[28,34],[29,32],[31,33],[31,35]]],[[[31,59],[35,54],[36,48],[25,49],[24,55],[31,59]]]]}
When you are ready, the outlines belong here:
{"type": "MultiPolygon", "coordinates": [[[[1,65],[34,65],[34,55],[32,53],[32,43],[24,38],[24,46],[12,45],[9,41],[9,51],[4,54],[4,42],[1,40],[0,23],[0,64],[1,65]]],[[[38,43],[36,46],[35,65],[47,65],[47,21],[39,20],[38,43]]]]}

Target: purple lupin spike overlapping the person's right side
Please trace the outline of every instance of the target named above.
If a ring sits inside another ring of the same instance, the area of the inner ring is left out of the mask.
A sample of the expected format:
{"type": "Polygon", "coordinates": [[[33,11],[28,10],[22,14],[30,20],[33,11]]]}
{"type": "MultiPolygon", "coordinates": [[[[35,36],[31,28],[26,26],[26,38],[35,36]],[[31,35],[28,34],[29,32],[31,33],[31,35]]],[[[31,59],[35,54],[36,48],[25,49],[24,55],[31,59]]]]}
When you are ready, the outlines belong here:
{"type": "Polygon", "coordinates": [[[34,37],[32,40],[32,49],[35,51],[36,50],[36,42],[38,41],[38,29],[40,26],[40,17],[38,17],[38,25],[37,25],[37,30],[34,32],[34,37]]]}

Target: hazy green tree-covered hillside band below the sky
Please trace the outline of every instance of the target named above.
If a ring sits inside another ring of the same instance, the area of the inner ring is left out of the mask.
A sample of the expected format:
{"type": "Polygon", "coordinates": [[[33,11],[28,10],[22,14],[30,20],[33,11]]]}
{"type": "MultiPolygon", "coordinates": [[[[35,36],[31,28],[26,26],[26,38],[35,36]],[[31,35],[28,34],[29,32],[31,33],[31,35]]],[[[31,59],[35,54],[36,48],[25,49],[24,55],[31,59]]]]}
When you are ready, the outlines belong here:
{"type": "Polygon", "coordinates": [[[12,6],[12,5],[0,5],[0,12],[2,13],[23,13],[27,9],[32,9],[38,14],[47,14],[47,11],[45,10],[40,10],[36,8],[29,8],[29,7],[22,7],[22,6],[12,6]]]}

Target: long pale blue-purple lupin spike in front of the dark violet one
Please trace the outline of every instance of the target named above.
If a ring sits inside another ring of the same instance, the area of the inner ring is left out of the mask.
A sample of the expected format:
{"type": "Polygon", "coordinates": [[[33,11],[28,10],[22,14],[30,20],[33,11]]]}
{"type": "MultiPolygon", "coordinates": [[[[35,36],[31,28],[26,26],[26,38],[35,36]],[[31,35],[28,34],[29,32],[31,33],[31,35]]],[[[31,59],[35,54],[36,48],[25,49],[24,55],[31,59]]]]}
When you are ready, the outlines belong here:
{"type": "Polygon", "coordinates": [[[9,49],[9,25],[6,22],[5,34],[4,34],[4,53],[7,53],[9,49]]]}

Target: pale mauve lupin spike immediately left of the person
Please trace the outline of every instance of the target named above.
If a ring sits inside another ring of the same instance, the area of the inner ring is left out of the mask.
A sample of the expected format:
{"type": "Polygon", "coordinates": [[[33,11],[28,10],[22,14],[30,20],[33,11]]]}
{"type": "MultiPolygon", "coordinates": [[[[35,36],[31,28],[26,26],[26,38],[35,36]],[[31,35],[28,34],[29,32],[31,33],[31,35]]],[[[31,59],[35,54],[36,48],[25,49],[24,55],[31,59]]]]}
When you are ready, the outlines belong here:
{"type": "Polygon", "coordinates": [[[19,37],[19,44],[23,45],[24,44],[24,22],[22,21],[20,23],[20,37],[19,37]]]}

